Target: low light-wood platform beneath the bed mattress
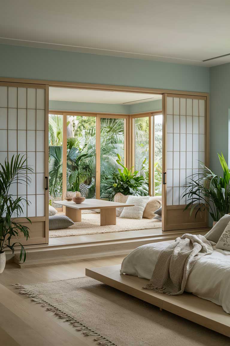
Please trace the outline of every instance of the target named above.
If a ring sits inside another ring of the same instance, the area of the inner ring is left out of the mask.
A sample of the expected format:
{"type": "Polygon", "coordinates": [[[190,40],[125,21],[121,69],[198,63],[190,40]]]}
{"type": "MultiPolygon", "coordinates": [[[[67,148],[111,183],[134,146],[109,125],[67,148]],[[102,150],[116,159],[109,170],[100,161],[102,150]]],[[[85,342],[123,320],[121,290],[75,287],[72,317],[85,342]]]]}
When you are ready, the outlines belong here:
{"type": "Polygon", "coordinates": [[[224,312],[221,306],[211,301],[186,292],[173,296],[152,290],[142,290],[142,287],[149,281],[140,279],[137,276],[121,275],[120,265],[86,268],[86,275],[153,304],[159,307],[160,310],[164,309],[172,312],[175,315],[230,337],[230,315],[224,312]]]}

